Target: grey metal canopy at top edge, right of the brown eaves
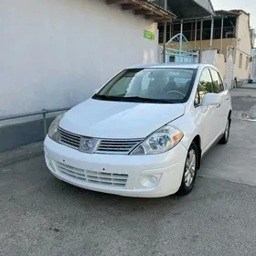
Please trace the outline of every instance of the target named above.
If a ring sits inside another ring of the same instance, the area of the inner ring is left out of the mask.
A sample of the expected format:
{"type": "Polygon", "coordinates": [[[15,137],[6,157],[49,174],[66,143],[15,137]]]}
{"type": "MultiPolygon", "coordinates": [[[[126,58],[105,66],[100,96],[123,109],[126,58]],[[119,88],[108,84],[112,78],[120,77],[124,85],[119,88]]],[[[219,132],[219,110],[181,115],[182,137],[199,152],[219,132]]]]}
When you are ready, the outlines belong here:
{"type": "MultiPolygon", "coordinates": [[[[152,0],[156,5],[165,6],[165,0],[152,0]]],[[[167,9],[179,19],[214,16],[214,8],[210,0],[167,0],[167,9]]]]}

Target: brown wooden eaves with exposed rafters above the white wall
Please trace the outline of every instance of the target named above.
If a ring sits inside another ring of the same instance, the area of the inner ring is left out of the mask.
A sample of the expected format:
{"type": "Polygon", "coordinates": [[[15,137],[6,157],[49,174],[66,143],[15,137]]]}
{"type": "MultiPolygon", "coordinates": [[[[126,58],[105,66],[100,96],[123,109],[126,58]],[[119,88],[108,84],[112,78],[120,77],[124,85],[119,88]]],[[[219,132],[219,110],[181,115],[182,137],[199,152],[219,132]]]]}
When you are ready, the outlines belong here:
{"type": "Polygon", "coordinates": [[[176,18],[172,12],[147,0],[106,0],[109,5],[122,5],[123,10],[132,10],[136,16],[144,16],[155,22],[171,22],[176,18]]]}

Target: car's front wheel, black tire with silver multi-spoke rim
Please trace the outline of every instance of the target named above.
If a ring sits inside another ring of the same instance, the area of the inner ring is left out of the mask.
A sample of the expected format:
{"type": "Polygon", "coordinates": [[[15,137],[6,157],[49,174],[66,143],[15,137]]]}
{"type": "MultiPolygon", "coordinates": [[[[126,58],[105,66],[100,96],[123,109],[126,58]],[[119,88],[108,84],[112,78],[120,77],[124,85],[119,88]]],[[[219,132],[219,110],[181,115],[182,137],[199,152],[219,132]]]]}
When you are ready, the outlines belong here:
{"type": "Polygon", "coordinates": [[[198,164],[199,164],[199,150],[198,150],[197,144],[193,142],[190,145],[189,149],[187,150],[187,158],[184,166],[184,173],[183,173],[181,185],[179,187],[177,194],[181,196],[185,196],[193,190],[196,182],[196,177],[197,177],[198,164]],[[193,165],[191,165],[192,164],[190,159],[191,157],[193,158],[195,157],[195,162],[193,165]]]}

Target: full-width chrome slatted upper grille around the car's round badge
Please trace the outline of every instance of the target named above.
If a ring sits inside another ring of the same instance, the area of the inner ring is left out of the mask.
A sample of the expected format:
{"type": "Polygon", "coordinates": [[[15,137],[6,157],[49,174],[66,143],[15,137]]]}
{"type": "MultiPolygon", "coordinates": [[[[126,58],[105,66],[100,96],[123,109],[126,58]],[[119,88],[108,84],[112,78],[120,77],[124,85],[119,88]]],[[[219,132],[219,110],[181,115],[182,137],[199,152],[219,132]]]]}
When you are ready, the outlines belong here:
{"type": "Polygon", "coordinates": [[[110,155],[128,155],[133,149],[142,143],[144,139],[101,139],[88,138],[79,134],[70,133],[59,127],[59,143],[79,150],[83,153],[110,154],[110,155]],[[93,142],[93,148],[90,152],[83,149],[85,140],[93,142]]]}

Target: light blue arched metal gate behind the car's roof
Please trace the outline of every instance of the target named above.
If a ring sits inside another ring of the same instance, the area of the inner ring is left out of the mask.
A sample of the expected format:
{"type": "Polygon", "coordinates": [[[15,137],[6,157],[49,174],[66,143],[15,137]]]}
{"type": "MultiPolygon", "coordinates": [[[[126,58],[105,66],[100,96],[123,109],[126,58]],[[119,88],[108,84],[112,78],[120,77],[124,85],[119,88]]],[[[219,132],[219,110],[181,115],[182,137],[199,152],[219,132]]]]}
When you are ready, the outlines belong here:
{"type": "Polygon", "coordinates": [[[166,62],[194,62],[194,52],[187,38],[179,33],[166,43],[166,62]]]}

